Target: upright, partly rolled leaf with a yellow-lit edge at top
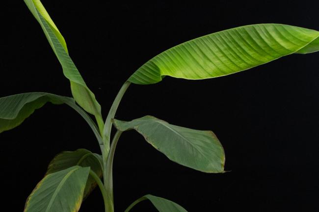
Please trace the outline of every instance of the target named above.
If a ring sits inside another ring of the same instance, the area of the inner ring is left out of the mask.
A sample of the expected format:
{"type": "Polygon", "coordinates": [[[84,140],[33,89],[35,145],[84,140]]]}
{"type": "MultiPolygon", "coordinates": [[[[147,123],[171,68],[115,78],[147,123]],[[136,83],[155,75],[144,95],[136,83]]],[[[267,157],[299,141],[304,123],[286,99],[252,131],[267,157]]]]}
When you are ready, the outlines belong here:
{"type": "Polygon", "coordinates": [[[88,113],[101,117],[101,106],[86,86],[77,67],[68,54],[63,36],[53,23],[40,0],[25,0],[27,7],[41,25],[53,51],[61,63],[63,73],[70,80],[71,91],[77,103],[88,113]]]}

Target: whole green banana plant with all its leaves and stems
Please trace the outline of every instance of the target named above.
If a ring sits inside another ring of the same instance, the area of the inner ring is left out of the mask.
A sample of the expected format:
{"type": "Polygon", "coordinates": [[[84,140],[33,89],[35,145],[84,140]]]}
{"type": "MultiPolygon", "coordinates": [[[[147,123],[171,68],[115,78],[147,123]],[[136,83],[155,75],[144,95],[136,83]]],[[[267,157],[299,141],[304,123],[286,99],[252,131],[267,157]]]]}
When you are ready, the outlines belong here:
{"type": "MultiPolygon", "coordinates": [[[[175,163],[207,173],[225,172],[225,153],[212,131],[176,126],[153,116],[131,121],[115,119],[128,87],[158,83],[165,76],[192,80],[219,77],[292,53],[319,50],[319,31],[285,24],[245,25],[199,37],[160,53],[133,72],[104,119],[99,102],[70,58],[62,34],[40,0],[24,1],[70,81],[72,97],[39,92],[1,97],[0,132],[17,127],[47,102],[67,104],[86,120],[102,154],[86,149],[58,154],[27,198],[25,212],[78,212],[82,200],[96,187],[103,195],[105,211],[114,212],[113,157],[121,134],[128,130],[141,134],[175,163]],[[117,131],[111,138],[112,126],[117,131]]],[[[125,212],[143,200],[149,200],[160,212],[186,212],[182,206],[150,194],[137,199],[125,212]]]]}

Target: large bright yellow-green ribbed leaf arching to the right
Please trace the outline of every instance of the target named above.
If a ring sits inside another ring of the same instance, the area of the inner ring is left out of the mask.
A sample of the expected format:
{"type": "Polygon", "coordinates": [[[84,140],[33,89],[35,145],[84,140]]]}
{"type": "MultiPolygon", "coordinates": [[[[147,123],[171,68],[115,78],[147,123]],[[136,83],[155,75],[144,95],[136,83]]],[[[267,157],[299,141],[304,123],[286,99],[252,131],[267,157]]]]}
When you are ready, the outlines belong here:
{"type": "Polygon", "coordinates": [[[172,47],[141,66],[128,81],[162,77],[206,79],[232,74],[292,53],[319,50],[319,32],[284,24],[254,24],[209,34],[172,47]]]}

